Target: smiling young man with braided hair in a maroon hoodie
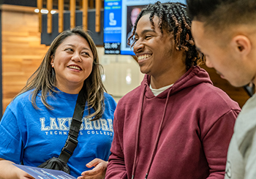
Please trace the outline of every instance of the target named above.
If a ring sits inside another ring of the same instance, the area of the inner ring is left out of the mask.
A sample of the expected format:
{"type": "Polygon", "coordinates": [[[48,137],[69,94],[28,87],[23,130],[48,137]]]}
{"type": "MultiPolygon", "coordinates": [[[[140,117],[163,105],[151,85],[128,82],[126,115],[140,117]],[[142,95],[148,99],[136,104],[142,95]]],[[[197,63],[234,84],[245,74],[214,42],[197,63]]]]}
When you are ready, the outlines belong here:
{"type": "Polygon", "coordinates": [[[129,42],[146,75],[118,101],[106,179],[224,178],[240,108],[197,66],[190,25],[180,3],[138,15],[129,42]]]}

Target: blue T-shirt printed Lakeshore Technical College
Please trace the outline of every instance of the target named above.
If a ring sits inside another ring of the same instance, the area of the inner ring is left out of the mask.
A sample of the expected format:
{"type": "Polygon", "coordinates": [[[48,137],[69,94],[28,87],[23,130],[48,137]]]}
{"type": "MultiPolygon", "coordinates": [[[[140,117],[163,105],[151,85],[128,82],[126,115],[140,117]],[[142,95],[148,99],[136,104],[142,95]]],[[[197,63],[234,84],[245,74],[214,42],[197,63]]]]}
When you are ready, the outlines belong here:
{"type": "MultiPolygon", "coordinates": [[[[53,93],[53,97],[47,99],[53,110],[48,110],[39,97],[36,100],[39,110],[36,110],[31,104],[30,94],[31,91],[27,91],[16,97],[5,110],[0,121],[0,158],[37,167],[61,153],[78,94],[53,93]]],[[[67,162],[72,176],[78,177],[81,172],[91,170],[86,164],[95,158],[108,160],[113,140],[114,110],[116,102],[106,93],[102,118],[90,121],[85,117],[88,115],[88,110],[85,110],[78,146],[67,162]]]]}

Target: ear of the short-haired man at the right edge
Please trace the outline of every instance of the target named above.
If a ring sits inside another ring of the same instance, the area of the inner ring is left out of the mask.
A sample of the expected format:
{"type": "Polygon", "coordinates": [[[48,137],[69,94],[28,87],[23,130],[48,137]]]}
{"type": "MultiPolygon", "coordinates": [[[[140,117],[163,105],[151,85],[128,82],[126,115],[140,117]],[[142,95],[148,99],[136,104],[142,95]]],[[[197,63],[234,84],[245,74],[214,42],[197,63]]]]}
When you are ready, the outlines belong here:
{"type": "Polygon", "coordinates": [[[252,50],[251,41],[244,35],[233,37],[231,45],[235,47],[236,52],[241,54],[241,56],[248,55],[252,50]]]}

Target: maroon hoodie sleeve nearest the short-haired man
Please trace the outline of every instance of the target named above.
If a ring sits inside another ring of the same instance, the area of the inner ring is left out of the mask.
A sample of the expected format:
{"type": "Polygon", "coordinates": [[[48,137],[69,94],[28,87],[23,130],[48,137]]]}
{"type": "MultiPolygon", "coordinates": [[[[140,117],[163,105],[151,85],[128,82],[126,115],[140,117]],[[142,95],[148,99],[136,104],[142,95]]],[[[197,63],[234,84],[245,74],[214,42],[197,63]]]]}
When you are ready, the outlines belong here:
{"type": "Polygon", "coordinates": [[[230,110],[222,115],[203,137],[203,149],[210,171],[208,179],[220,179],[225,176],[227,149],[238,113],[239,111],[230,110]]]}

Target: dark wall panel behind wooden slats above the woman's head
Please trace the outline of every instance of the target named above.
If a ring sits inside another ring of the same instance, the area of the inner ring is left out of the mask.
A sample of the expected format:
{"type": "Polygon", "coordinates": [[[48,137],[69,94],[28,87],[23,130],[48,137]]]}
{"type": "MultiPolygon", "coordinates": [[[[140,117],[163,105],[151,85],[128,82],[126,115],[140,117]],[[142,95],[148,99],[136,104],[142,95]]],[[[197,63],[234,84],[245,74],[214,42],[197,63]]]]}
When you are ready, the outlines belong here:
{"type": "MultiPolygon", "coordinates": [[[[70,13],[64,12],[64,30],[69,29],[70,27],[70,13]]],[[[76,26],[82,26],[82,12],[77,11],[75,12],[75,25],[76,26]]],[[[88,30],[89,34],[91,35],[92,39],[94,39],[94,43],[97,46],[103,46],[103,19],[104,19],[104,13],[103,10],[100,14],[100,32],[95,31],[95,10],[91,9],[88,12],[88,30]]],[[[53,14],[53,24],[52,24],[52,33],[47,33],[47,15],[42,15],[42,34],[41,34],[41,44],[50,45],[51,42],[53,42],[53,39],[58,36],[58,28],[59,28],[59,18],[58,14],[53,14]]]]}

